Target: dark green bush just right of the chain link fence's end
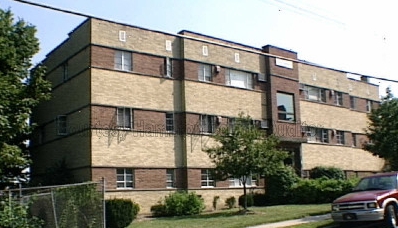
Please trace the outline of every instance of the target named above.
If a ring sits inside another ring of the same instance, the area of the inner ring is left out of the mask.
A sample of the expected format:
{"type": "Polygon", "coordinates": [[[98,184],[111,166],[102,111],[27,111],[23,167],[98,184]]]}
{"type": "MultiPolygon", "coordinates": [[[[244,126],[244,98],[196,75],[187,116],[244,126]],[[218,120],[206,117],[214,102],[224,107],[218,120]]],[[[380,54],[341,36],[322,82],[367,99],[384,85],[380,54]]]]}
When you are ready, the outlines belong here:
{"type": "Polygon", "coordinates": [[[130,225],[140,210],[138,204],[128,199],[106,200],[106,227],[124,228],[130,225]]]}

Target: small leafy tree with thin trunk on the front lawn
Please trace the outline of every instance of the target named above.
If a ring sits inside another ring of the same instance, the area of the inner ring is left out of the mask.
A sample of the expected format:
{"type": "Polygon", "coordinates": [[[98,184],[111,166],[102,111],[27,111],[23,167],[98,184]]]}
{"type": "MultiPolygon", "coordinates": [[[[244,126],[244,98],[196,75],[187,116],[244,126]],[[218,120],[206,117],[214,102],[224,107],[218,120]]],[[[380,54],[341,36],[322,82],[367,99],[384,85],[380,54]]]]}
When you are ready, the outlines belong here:
{"type": "Polygon", "coordinates": [[[220,128],[212,136],[218,145],[204,150],[215,165],[216,179],[239,178],[243,185],[245,211],[247,178],[274,172],[288,156],[285,151],[277,149],[279,141],[275,136],[265,137],[265,133],[252,123],[250,116],[240,113],[233,129],[220,128]]]}

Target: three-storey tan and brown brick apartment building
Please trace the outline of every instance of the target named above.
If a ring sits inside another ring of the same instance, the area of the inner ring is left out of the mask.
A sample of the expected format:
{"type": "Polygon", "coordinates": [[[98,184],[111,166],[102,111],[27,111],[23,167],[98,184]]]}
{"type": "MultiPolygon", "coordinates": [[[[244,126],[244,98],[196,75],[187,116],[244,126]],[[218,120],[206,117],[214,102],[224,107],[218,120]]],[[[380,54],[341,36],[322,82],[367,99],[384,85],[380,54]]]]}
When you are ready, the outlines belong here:
{"type": "MultiPolygon", "coordinates": [[[[383,167],[360,149],[377,86],[304,64],[289,50],[89,18],[43,63],[53,90],[32,117],[36,182],[64,160],[75,182],[104,177],[107,197],[132,198],[144,213],[178,189],[196,191],[211,207],[214,196],[242,194],[238,180],[212,178],[202,151],[240,112],[280,137],[299,173],[383,167]]],[[[262,189],[254,176],[248,184],[262,189]]]]}

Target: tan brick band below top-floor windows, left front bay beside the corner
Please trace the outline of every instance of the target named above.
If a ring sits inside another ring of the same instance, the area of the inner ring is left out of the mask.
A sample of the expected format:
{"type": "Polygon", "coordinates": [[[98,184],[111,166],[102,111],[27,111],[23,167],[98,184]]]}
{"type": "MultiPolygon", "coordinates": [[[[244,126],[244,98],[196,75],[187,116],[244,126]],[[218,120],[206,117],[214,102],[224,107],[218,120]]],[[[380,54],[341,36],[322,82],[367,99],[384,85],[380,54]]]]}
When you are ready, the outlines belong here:
{"type": "Polygon", "coordinates": [[[92,69],[91,102],[154,110],[181,110],[180,81],[92,69]]]}

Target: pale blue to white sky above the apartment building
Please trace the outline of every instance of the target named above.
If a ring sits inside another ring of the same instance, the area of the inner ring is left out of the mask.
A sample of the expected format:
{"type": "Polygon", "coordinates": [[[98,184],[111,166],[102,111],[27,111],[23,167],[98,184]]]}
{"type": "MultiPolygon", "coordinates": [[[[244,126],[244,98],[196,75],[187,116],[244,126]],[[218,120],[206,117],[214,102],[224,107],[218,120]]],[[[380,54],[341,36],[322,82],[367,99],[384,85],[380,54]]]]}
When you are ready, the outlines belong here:
{"type": "MultiPolygon", "coordinates": [[[[176,34],[190,30],[261,48],[297,52],[300,60],[359,75],[398,81],[396,0],[29,0],[134,26],[176,34]]],[[[0,0],[37,28],[47,53],[67,39],[85,17],[13,0],[0,0]]],[[[398,83],[371,80],[380,95],[398,83]]]]}

